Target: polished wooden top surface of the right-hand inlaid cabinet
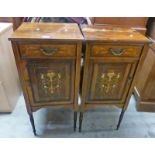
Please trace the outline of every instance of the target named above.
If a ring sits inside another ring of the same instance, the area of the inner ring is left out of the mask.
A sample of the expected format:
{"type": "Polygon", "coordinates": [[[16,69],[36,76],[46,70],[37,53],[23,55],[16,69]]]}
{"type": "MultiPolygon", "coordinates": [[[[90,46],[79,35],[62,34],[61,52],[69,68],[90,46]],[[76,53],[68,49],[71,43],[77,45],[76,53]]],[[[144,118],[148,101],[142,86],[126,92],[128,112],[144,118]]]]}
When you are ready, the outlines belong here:
{"type": "Polygon", "coordinates": [[[113,41],[113,42],[150,42],[148,38],[140,34],[136,30],[127,27],[118,26],[96,26],[82,25],[81,26],[84,38],[92,41],[113,41]]]}

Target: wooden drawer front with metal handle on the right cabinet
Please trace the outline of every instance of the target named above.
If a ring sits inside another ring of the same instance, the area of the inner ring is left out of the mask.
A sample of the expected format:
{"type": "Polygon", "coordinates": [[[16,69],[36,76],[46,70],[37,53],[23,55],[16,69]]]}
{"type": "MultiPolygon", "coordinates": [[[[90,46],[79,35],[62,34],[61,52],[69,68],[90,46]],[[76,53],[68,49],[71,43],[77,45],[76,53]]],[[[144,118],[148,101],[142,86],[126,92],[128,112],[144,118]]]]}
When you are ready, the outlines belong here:
{"type": "Polygon", "coordinates": [[[126,46],[126,45],[92,45],[92,57],[100,56],[122,56],[122,57],[139,57],[142,46],[126,46]]]}

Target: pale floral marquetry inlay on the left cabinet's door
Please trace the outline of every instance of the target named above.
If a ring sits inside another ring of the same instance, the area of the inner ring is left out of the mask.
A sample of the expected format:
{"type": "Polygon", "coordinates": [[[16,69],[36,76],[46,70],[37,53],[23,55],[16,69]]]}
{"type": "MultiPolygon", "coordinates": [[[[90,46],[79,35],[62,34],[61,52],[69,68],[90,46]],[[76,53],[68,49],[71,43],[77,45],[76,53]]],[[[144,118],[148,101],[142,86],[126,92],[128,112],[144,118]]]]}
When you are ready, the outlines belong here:
{"type": "Polygon", "coordinates": [[[60,91],[62,76],[60,73],[49,72],[41,73],[41,87],[44,93],[48,96],[54,95],[56,92],[60,91]]]}

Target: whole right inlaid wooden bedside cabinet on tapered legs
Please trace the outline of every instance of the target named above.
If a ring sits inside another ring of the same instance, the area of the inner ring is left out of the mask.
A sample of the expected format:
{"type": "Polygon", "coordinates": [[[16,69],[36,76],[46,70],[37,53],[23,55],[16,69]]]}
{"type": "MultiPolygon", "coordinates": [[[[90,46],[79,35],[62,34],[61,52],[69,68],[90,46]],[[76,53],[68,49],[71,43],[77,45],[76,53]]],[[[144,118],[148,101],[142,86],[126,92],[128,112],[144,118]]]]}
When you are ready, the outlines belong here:
{"type": "Polygon", "coordinates": [[[81,30],[86,51],[79,131],[83,112],[101,105],[122,108],[119,129],[149,40],[133,29],[115,26],[81,26],[81,30]]]}

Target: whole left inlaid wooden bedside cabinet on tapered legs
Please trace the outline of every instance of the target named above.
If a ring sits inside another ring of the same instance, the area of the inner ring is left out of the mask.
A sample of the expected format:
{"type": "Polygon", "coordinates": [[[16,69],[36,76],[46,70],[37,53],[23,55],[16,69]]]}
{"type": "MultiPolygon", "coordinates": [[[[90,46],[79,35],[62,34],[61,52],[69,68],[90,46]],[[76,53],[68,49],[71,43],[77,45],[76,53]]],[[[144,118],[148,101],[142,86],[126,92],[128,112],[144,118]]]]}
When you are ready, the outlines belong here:
{"type": "Polygon", "coordinates": [[[74,109],[76,129],[83,36],[76,24],[24,23],[10,38],[30,116],[48,106],[74,109]]]}

